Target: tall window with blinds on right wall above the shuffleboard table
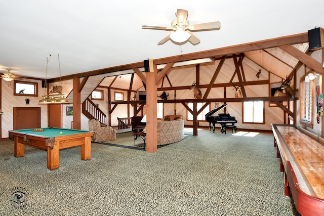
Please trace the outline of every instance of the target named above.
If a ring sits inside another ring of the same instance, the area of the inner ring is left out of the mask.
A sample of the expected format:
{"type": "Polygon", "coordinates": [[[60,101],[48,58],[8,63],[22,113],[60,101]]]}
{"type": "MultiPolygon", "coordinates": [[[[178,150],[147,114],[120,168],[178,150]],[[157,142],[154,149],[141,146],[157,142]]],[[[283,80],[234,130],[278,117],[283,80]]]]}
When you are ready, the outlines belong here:
{"type": "Polygon", "coordinates": [[[312,82],[300,82],[300,120],[312,122],[312,82]]]}

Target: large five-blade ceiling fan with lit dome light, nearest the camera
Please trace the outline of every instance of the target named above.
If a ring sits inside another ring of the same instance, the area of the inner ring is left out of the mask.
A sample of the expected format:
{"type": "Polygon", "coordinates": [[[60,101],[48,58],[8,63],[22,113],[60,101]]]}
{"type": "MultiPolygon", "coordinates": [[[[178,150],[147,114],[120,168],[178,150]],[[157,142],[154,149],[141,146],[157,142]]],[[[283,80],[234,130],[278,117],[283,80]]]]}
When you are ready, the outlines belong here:
{"type": "Polygon", "coordinates": [[[177,10],[176,17],[177,19],[171,22],[171,27],[142,25],[142,28],[173,31],[168,36],[160,40],[157,45],[163,45],[169,39],[173,40],[174,42],[178,42],[179,44],[189,40],[192,45],[197,45],[199,44],[200,40],[190,31],[219,30],[221,27],[221,23],[219,21],[189,25],[189,21],[187,20],[188,11],[183,9],[177,10]]]}

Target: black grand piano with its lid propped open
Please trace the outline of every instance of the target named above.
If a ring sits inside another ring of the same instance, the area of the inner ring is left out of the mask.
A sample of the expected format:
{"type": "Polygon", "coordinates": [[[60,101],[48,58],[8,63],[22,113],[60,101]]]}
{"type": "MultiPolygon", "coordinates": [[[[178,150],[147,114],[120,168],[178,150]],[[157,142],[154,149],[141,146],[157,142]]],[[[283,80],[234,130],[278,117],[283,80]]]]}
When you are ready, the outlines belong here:
{"type": "Polygon", "coordinates": [[[237,120],[234,116],[230,116],[229,113],[219,113],[218,116],[214,115],[219,112],[221,109],[227,107],[228,104],[223,104],[222,106],[210,111],[205,115],[206,121],[209,122],[209,129],[211,129],[211,125],[213,124],[213,133],[215,133],[215,124],[218,123],[221,125],[221,132],[226,133],[226,124],[234,125],[237,123],[237,120]]]}

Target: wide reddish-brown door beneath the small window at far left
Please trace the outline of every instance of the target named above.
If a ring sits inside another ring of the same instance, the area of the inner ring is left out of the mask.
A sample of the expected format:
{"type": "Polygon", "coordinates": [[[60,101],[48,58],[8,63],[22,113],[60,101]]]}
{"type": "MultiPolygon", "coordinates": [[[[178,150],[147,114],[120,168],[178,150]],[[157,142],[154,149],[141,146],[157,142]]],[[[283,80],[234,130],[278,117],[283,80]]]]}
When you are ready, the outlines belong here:
{"type": "Polygon", "coordinates": [[[13,109],[14,129],[41,127],[41,107],[14,107],[13,109]]]}

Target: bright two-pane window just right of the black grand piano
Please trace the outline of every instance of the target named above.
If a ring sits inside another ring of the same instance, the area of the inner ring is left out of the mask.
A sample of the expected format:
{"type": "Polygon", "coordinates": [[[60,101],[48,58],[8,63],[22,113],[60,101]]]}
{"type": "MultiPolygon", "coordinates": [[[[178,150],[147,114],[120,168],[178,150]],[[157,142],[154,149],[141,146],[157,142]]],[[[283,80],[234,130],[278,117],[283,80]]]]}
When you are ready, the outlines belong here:
{"type": "Polygon", "coordinates": [[[243,123],[264,124],[264,102],[247,101],[243,103],[243,123]]]}

